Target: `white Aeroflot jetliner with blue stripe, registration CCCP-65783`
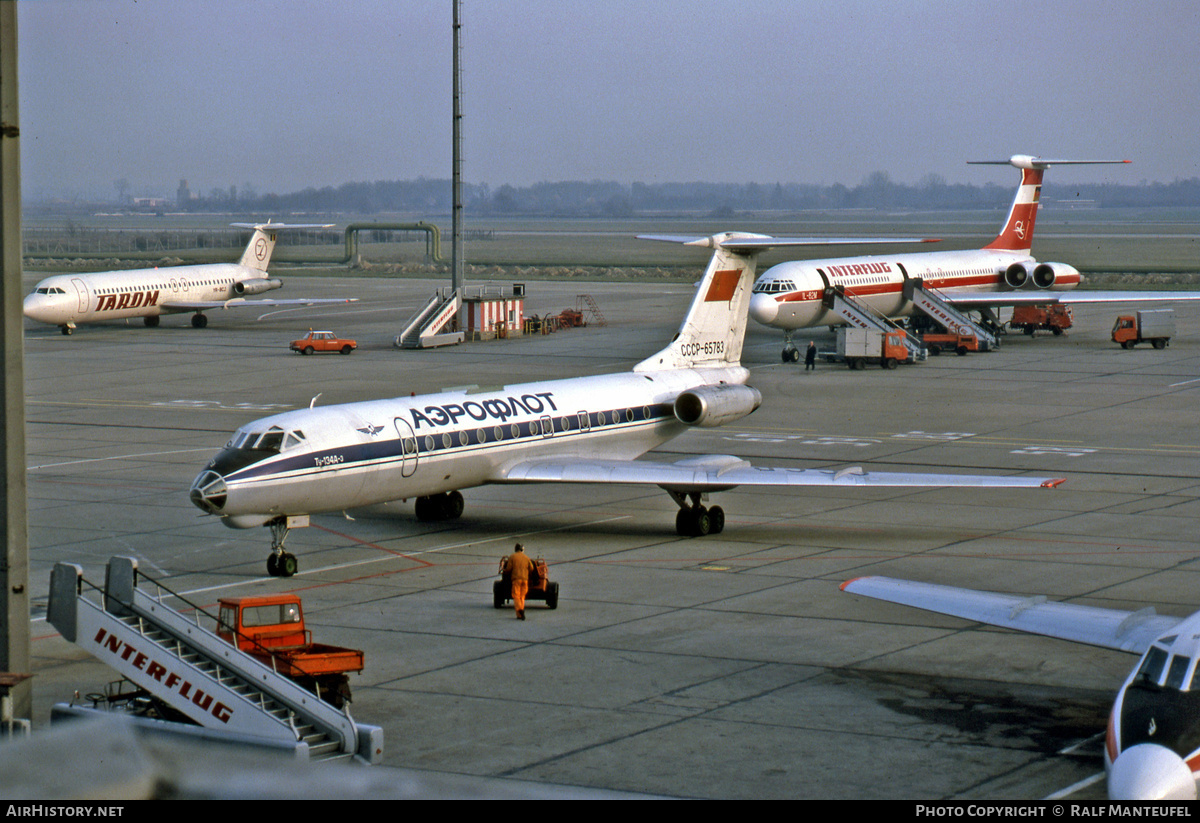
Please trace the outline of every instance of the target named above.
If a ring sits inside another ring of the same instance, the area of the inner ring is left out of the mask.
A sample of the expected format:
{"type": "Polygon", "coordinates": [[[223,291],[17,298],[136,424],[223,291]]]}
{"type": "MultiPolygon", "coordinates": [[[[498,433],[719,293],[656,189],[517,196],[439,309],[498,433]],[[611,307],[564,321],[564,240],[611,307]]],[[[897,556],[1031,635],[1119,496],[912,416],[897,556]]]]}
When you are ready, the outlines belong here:
{"type": "MultiPolygon", "coordinates": [[[[648,238],[672,240],[668,238],[648,238]]],[[[191,499],[226,525],[268,525],[271,575],[290,576],[288,529],[308,516],[415,498],[420,519],[452,519],[460,489],[486,483],[649,483],[678,504],[676,529],[725,528],[702,495],[736,486],[1052,487],[1048,477],[761,468],[731,455],[674,463],[635,459],[692,426],[733,422],[758,408],[745,385],[742,342],[757,256],[764,248],[828,242],[718,234],[688,314],[670,346],[620,374],[448,390],[313,407],[263,417],[234,432],[192,483],[191,499]]]]}

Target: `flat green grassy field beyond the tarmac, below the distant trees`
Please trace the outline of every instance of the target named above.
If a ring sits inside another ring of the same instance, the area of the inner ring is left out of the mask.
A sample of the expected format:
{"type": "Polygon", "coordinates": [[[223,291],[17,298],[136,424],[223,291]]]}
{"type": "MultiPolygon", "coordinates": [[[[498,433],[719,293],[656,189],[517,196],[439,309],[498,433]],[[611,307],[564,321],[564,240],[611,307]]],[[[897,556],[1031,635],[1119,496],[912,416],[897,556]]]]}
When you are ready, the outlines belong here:
{"type": "MultiPolygon", "coordinates": [[[[466,244],[466,259],[476,276],[486,277],[490,269],[499,269],[499,277],[511,277],[512,268],[518,269],[570,269],[574,276],[630,277],[671,276],[673,270],[680,276],[702,265],[702,250],[682,248],[673,244],[636,240],[637,234],[715,234],[722,230],[748,230],[774,235],[818,236],[929,236],[940,238],[936,246],[924,246],[922,251],[978,248],[988,242],[1004,215],[995,212],[886,212],[886,211],[836,211],[744,215],[737,217],[679,217],[642,216],[623,220],[570,220],[570,218],[497,218],[467,217],[467,228],[481,235],[466,244]],[[649,271],[628,271],[628,270],[649,271]],[[614,270],[614,271],[602,271],[614,270]]],[[[229,215],[112,215],[88,217],[62,217],[48,214],[25,218],[28,229],[36,229],[38,236],[61,232],[64,238],[80,234],[144,233],[152,239],[156,233],[168,230],[209,232],[220,241],[209,240],[204,248],[172,248],[169,252],[146,251],[114,256],[104,253],[103,246],[96,254],[55,254],[53,251],[35,251],[26,256],[30,269],[110,269],[137,265],[167,265],[180,263],[235,260],[240,254],[236,230],[229,228],[233,221],[245,222],[253,217],[229,215]],[[83,260],[92,257],[92,260],[83,260]],[[166,258],[166,259],[164,259],[166,258]]],[[[293,222],[329,222],[335,229],[328,233],[324,245],[292,246],[281,242],[275,262],[280,268],[299,264],[317,266],[322,271],[340,269],[344,254],[342,228],[348,222],[426,220],[442,229],[442,254],[449,262],[450,226],[445,216],[422,217],[414,215],[304,215],[287,216],[293,222]]],[[[32,235],[32,232],[30,232],[32,235]]],[[[240,236],[244,236],[240,235],[240,236]]],[[[407,242],[368,242],[360,235],[360,250],[367,274],[378,271],[386,275],[428,274],[425,242],[414,238],[407,242]]],[[[152,246],[154,244],[148,244],[152,246]]],[[[823,257],[848,257],[881,253],[881,251],[916,251],[917,247],[815,247],[809,251],[787,250],[764,256],[762,265],[784,259],[812,259],[823,257]]],[[[1070,210],[1044,206],[1038,218],[1034,254],[1042,260],[1062,260],[1085,272],[1166,272],[1200,274],[1200,209],[1196,210],[1070,210]]],[[[562,271],[528,271],[522,276],[562,276],[562,271]]]]}

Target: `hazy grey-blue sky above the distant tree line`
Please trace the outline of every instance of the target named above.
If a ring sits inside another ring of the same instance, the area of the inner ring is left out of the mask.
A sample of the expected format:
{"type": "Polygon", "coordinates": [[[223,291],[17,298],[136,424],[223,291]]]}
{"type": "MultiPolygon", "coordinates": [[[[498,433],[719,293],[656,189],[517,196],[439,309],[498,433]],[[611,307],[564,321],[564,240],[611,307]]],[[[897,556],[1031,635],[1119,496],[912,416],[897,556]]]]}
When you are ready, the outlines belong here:
{"type": "MultiPolygon", "coordinates": [[[[1193,0],[464,0],[464,176],[1200,176],[1193,0]]],[[[22,0],[26,196],[450,175],[450,0],[22,0]]]]}

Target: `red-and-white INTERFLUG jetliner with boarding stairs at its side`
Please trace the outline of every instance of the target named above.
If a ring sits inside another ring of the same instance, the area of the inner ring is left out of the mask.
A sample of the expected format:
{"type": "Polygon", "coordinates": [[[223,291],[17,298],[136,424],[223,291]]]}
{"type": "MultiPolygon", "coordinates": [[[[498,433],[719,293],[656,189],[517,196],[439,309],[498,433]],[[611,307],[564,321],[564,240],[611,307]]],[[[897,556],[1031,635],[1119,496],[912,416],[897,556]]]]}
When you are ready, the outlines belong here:
{"type": "MultiPolygon", "coordinates": [[[[913,313],[905,281],[923,281],[946,302],[964,311],[979,311],[996,323],[992,310],[1002,306],[1100,302],[1172,302],[1200,300],[1200,292],[1072,292],[1079,271],[1066,263],[1038,263],[1031,254],[1038,215],[1042,175],[1051,166],[1128,163],[1106,160],[1046,160],[1015,155],[1007,161],[971,161],[977,164],[1014,166],[1021,185],[1000,234],[979,250],[894,256],[830,258],[780,263],[754,286],[750,317],[784,330],[785,362],[799,359],[792,343],[797,329],[836,326],[842,317],[826,306],[827,290],[842,287],[846,295],[876,314],[902,318],[913,313]]],[[[997,324],[998,325],[998,324],[997,324]]]]}

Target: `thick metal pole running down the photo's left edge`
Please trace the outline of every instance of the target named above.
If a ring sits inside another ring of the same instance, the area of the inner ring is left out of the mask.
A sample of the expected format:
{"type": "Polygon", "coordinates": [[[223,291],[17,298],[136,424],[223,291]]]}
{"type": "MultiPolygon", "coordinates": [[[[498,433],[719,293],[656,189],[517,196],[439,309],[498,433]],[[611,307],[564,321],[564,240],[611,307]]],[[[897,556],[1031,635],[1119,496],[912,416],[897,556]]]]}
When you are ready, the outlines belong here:
{"type": "MultiPolygon", "coordinates": [[[[25,519],[25,340],[20,284],[20,127],[17,112],[17,4],[0,0],[0,438],[4,479],[0,487],[0,671],[30,671],[29,531],[25,519]]],[[[26,679],[12,689],[16,717],[32,715],[32,687],[26,679]]]]}

